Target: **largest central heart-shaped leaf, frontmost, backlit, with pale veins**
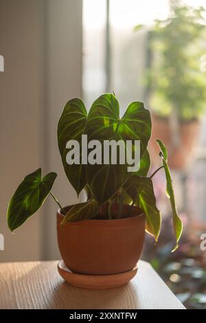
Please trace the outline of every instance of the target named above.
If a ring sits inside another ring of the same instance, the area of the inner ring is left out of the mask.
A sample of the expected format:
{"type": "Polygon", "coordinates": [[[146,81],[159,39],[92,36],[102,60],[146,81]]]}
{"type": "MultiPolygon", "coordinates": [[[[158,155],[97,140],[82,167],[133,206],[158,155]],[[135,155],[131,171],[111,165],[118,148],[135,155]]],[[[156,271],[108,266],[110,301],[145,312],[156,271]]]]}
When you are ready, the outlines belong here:
{"type": "MultiPolygon", "coordinates": [[[[148,140],[151,135],[150,112],[144,109],[141,102],[129,104],[123,118],[119,118],[119,103],[115,96],[106,93],[93,102],[87,117],[88,140],[126,140],[133,141],[133,151],[135,140],[140,141],[141,156],[144,155],[148,140]]],[[[146,156],[148,159],[148,155],[146,156]]],[[[102,205],[110,199],[117,190],[125,183],[128,177],[128,164],[88,165],[87,175],[89,187],[95,199],[102,205]]]]}

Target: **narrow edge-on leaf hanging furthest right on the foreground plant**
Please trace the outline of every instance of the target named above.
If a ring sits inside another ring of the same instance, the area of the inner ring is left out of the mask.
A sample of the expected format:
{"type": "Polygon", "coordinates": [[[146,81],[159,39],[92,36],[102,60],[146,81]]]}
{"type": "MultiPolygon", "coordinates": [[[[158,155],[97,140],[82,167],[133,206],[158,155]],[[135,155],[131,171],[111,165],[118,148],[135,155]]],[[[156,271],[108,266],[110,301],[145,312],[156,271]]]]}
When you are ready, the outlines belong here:
{"type": "Polygon", "coordinates": [[[167,195],[170,199],[170,204],[171,204],[171,208],[172,208],[173,225],[174,225],[174,232],[175,232],[175,236],[176,236],[176,246],[172,250],[174,252],[179,247],[178,242],[179,242],[179,239],[181,238],[181,234],[183,231],[183,223],[182,223],[181,219],[179,218],[179,214],[176,210],[176,203],[175,203],[175,199],[174,199],[174,190],[172,187],[172,178],[170,175],[170,168],[168,167],[168,152],[167,152],[167,149],[165,148],[165,145],[163,144],[163,142],[161,142],[161,140],[156,140],[156,141],[157,141],[157,144],[159,144],[159,147],[161,148],[162,164],[164,166],[165,177],[166,177],[166,181],[167,181],[166,192],[167,192],[167,195]]]}

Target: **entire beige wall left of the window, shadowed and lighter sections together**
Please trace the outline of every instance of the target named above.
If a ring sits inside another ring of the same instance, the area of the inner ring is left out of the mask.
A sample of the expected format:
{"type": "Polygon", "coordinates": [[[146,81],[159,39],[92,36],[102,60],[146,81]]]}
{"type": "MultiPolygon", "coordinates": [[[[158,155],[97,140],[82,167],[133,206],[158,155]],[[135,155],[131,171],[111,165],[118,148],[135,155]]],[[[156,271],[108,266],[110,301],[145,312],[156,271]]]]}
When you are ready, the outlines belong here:
{"type": "Polygon", "coordinates": [[[58,172],[54,192],[62,204],[76,201],[58,155],[56,124],[62,105],[81,94],[81,10],[81,0],[0,0],[0,261],[58,257],[53,201],[16,234],[5,214],[16,186],[39,166],[58,172]]]}

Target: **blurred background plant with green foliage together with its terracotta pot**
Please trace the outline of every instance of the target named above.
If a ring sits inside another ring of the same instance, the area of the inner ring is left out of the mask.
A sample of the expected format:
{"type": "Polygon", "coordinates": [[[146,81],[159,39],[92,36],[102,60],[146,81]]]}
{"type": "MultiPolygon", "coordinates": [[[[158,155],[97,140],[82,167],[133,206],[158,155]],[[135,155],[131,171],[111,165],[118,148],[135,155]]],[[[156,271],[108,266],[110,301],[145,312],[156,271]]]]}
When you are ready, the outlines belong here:
{"type": "MultiPolygon", "coordinates": [[[[205,10],[170,0],[168,19],[155,21],[148,32],[148,101],[152,107],[152,139],[168,147],[172,168],[183,168],[198,140],[199,117],[206,107],[205,10]]],[[[157,162],[157,147],[152,144],[157,162]]]]}

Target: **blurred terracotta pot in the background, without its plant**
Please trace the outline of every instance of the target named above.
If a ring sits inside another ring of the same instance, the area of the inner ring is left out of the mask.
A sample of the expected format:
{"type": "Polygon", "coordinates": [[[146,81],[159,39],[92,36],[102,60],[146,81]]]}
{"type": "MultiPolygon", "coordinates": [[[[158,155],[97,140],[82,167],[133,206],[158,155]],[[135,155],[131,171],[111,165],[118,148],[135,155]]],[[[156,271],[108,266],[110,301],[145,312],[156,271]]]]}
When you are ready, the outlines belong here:
{"type": "Polygon", "coordinates": [[[198,120],[181,122],[180,144],[178,147],[174,147],[168,118],[159,118],[157,115],[152,115],[152,137],[149,149],[153,163],[159,165],[159,146],[155,140],[160,139],[168,149],[168,164],[170,167],[173,169],[185,168],[192,159],[192,153],[198,140],[199,128],[198,120]]]}

